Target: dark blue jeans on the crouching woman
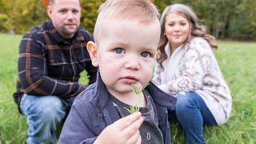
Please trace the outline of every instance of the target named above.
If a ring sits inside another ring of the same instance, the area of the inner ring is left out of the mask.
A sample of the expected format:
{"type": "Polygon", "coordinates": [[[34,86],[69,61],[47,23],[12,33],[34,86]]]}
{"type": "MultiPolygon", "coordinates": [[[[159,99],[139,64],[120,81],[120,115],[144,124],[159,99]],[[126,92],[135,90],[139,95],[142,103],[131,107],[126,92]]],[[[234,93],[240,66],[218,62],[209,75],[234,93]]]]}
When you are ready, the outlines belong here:
{"type": "Polygon", "coordinates": [[[177,103],[174,113],[170,114],[170,122],[178,120],[186,143],[206,143],[203,126],[217,126],[217,123],[205,102],[194,92],[180,92],[175,97],[177,103]]]}

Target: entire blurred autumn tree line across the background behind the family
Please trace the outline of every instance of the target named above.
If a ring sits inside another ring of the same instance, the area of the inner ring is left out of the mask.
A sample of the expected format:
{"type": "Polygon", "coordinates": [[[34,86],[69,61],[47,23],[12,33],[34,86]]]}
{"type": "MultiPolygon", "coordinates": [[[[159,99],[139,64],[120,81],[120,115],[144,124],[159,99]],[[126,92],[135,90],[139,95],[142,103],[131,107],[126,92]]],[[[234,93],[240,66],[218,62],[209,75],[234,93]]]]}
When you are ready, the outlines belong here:
{"type": "MultiPolygon", "coordinates": [[[[150,0],[160,12],[173,3],[190,6],[216,38],[256,39],[256,2],[254,0],[150,0]]],[[[81,26],[93,32],[98,6],[104,0],[80,0],[81,26]]],[[[0,0],[0,31],[24,34],[49,20],[42,3],[48,0],[0,0]]]]}

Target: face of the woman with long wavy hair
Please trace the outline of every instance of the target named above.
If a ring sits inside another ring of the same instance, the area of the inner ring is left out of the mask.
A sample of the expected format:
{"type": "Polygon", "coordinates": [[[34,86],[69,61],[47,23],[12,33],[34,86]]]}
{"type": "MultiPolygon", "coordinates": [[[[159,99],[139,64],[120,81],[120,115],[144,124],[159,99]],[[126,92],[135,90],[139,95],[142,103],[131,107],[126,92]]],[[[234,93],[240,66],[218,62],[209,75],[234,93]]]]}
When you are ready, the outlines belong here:
{"type": "Polygon", "coordinates": [[[167,14],[164,26],[166,37],[173,49],[182,45],[190,34],[190,22],[180,14],[167,14]]]}

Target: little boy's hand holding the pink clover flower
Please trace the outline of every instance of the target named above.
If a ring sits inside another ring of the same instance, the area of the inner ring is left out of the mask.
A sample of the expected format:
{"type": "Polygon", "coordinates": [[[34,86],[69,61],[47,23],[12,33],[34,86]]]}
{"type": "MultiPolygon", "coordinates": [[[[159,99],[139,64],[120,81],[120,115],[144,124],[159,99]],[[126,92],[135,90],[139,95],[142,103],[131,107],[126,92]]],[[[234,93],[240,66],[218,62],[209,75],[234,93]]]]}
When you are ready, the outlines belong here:
{"type": "Polygon", "coordinates": [[[122,144],[138,144],[142,142],[141,135],[138,128],[143,122],[141,113],[130,114],[124,118],[119,119],[112,125],[107,126],[106,129],[99,134],[94,144],[104,143],[122,143],[122,144]]]}

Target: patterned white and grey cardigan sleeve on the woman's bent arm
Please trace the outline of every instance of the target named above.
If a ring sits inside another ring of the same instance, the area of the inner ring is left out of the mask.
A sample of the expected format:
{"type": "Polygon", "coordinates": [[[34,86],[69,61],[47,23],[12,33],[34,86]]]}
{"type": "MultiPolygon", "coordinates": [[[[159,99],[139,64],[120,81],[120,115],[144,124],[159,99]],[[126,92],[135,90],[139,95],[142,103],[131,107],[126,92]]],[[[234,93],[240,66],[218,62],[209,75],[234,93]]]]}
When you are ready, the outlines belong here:
{"type": "Polygon", "coordinates": [[[179,77],[158,86],[168,94],[177,94],[180,91],[194,91],[202,89],[203,78],[210,73],[214,52],[210,45],[201,38],[190,42],[184,61],[180,62],[179,77]]]}

